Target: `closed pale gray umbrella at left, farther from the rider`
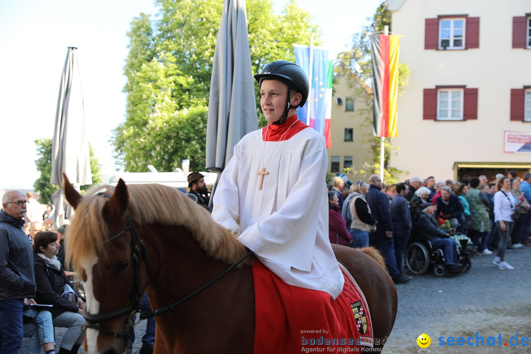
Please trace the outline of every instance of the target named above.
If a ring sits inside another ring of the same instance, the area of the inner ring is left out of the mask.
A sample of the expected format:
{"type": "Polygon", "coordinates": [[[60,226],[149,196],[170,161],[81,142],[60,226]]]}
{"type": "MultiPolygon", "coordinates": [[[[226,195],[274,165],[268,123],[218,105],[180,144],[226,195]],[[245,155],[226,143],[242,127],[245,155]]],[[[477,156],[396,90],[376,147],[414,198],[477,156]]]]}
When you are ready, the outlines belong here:
{"type": "MultiPolygon", "coordinates": [[[[85,137],[85,111],[83,90],[75,47],[68,47],[61,76],[57,112],[55,115],[54,139],[52,141],[52,177],[50,183],[63,186],[65,171],[68,179],[79,191],[81,185],[92,184],[90,171],[89,142],[85,137]]],[[[70,217],[59,189],[52,196],[55,204],[54,224],[61,226],[70,217]]]]}

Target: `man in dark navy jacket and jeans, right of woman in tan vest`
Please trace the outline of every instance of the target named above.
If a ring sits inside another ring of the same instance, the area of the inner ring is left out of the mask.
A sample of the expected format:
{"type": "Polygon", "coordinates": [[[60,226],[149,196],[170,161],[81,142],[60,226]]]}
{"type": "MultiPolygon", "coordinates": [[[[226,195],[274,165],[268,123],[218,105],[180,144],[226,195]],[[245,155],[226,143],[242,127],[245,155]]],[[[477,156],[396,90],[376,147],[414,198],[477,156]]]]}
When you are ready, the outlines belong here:
{"type": "Polygon", "coordinates": [[[372,175],[369,177],[369,193],[365,195],[365,198],[373,217],[377,221],[376,231],[369,235],[369,244],[378,248],[386,259],[387,270],[393,281],[395,283],[407,283],[411,278],[402,274],[397,267],[389,200],[387,195],[381,192],[381,189],[380,176],[372,175]]]}

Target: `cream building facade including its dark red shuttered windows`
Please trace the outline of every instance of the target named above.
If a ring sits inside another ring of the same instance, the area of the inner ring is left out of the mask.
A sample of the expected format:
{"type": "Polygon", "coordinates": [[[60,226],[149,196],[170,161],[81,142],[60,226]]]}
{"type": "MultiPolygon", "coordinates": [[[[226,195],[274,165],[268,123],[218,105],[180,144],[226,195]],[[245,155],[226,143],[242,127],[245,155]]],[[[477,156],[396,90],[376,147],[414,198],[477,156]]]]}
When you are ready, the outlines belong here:
{"type": "Polygon", "coordinates": [[[391,166],[461,179],[531,168],[531,1],[388,0],[409,85],[391,166]]]}

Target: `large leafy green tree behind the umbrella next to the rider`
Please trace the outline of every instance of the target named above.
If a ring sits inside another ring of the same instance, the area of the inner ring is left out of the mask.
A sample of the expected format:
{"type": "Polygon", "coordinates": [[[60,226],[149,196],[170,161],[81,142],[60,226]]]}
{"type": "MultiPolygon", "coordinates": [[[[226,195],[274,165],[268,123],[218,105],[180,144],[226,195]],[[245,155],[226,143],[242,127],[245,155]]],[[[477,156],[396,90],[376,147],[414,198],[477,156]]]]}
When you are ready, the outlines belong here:
{"type": "MultiPolygon", "coordinates": [[[[157,0],[156,5],[156,18],[140,14],[128,32],[126,119],[114,131],[115,157],[127,171],[147,171],[150,164],[160,171],[173,170],[183,158],[190,158],[192,170],[201,170],[223,4],[157,0]]],[[[271,0],[249,2],[246,10],[253,73],[277,59],[294,61],[293,44],[310,44],[312,33],[315,45],[321,44],[318,27],[295,0],[279,15],[271,0]]],[[[255,91],[259,103],[258,84],[255,91]]],[[[261,114],[259,122],[265,125],[261,114]]]]}

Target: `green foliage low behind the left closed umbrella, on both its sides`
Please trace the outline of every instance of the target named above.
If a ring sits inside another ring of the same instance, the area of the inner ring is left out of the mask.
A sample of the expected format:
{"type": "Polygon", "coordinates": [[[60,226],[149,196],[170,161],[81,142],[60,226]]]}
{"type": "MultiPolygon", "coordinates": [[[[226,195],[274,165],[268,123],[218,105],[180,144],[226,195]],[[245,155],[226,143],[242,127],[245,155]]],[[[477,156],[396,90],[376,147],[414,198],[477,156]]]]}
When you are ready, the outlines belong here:
{"type": "MultiPolygon", "coordinates": [[[[39,193],[39,201],[41,204],[52,203],[52,194],[58,189],[58,185],[50,183],[52,176],[52,139],[44,138],[35,140],[37,145],[38,159],[35,160],[37,171],[40,172],[40,177],[33,184],[35,191],[39,193]]],[[[90,151],[90,171],[92,174],[92,184],[81,186],[82,191],[86,191],[93,185],[101,183],[101,173],[99,169],[98,159],[94,156],[94,150],[89,144],[90,151]]]]}

